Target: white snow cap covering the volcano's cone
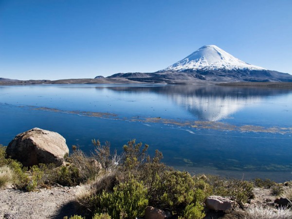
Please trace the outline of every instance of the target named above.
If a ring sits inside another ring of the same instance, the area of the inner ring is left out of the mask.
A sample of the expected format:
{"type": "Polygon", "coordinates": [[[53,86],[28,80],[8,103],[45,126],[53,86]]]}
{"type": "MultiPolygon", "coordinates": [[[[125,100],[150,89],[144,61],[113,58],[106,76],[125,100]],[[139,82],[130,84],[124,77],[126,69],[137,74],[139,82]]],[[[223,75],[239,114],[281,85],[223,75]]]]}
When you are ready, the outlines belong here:
{"type": "Polygon", "coordinates": [[[202,46],[196,52],[174,63],[163,71],[182,72],[184,70],[265,70],[248,64],[226,53],[215,45],[202,46]]]}

